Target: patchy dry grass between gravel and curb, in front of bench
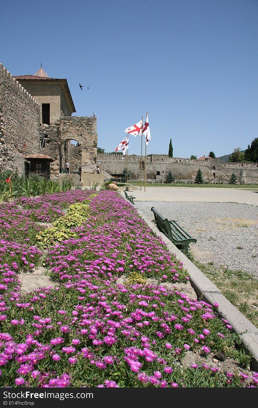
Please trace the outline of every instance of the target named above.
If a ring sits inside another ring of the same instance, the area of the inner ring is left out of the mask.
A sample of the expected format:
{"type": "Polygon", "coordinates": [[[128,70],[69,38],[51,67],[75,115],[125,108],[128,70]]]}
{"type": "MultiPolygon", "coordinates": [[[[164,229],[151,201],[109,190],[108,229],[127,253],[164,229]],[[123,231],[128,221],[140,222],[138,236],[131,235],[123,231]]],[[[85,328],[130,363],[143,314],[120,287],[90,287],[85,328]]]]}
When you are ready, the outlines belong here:
{"type": "Polygon", "coordinates": [[[215,267],[212,262],[202,264],[196,261],[192,254],[190,260],[221,290],[223,296],[258,328],[258,309],[256,309],[258,279],[241,270],[231,271],[222,265],[215,267]]]}

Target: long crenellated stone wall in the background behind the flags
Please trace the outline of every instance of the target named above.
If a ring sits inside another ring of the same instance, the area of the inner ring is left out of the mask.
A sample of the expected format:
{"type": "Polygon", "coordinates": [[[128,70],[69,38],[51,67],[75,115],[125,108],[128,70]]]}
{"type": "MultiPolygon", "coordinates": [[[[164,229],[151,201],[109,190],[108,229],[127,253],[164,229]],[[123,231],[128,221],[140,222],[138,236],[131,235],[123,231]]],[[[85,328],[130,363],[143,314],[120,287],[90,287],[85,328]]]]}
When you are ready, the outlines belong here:
{"type": "MultiPolygon", "coordinates": [[[[97,161],[100,162],[104,171],[110,175],[121,175],[126,166],[126,158],[122,160],[120,155],[99,154],[97,161]]],[[[145,157],[142,157],[142,178],[145,173],[145,157]]],[[[182,157],[168,157],[168,155],[148,155],[146,157],[146,179],[153,180],[157,175],[166,176],[171,171],[175,179],[194,180],[198,169],[201,169],[205,181],[228,181],[232,173],[241,177],[248,184],[258,184],[257,163],[224,163],[218,158],[208,160],[191,160],[182,157]],[[242,172],[241,172],[242,171],[242,172]]],[[[141,156],[128,156],[128,171],[130,180],[141,178],[141,156]]]]}

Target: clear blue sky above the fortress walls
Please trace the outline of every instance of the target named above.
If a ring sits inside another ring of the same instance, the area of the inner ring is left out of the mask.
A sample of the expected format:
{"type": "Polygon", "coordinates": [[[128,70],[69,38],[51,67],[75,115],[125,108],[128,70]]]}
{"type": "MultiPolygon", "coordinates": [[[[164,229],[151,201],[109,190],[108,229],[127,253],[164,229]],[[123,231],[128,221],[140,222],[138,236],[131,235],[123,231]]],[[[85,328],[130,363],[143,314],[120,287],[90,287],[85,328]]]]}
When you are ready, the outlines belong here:
{"type": "Polygon", "coordinates": [[[257,0],[13,0],[1,16],[0,62],[66,78],[106,152],[146,111],[147,154],[168,154],[171,138],[174,157],[218,157],[258,137],[257,0]]]}

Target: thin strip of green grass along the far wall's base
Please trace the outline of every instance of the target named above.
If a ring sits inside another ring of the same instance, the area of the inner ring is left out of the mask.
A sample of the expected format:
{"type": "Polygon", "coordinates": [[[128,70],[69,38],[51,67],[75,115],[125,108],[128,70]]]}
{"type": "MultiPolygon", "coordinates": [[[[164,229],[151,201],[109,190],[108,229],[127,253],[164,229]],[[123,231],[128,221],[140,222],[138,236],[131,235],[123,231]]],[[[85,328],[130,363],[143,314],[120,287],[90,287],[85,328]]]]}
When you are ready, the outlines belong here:
{"type": "MultiPolygon", "coordinates": [[[[144,187],[144,181],[131,181],[128,184],[144,187]]],[[[186,183],[146,183],[146,187],[203,187],[203,188],[242,188],[258,191],[258,184],[186,184],[186,183]]]]}

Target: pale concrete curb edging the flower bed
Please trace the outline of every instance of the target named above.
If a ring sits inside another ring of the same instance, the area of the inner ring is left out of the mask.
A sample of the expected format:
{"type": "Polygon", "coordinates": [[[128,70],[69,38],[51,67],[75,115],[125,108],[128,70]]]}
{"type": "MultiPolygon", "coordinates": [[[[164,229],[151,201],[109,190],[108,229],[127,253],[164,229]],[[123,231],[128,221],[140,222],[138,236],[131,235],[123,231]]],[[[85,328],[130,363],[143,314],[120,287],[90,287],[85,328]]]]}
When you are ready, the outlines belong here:
{"type": "Polygon", "coordinates": [[[245,351],[253,356],[251,359],[251,368],[252,370],[258,371],[258,328],[222,295],[221,291],[158,230],[154,223],[150,221],[141,210],[137,208],[136,210],[152,231],[162,238],[168,246],[168,250],[175,254],[177,259],[183,262],[184,268],[187,269],[190,275],[190,283],[196,291],[196,294],[212,306],[214,302],[219,304],[219,307],[216,308],[219,315],[226,319],[232,328],[239,333],[245,351]]]}

